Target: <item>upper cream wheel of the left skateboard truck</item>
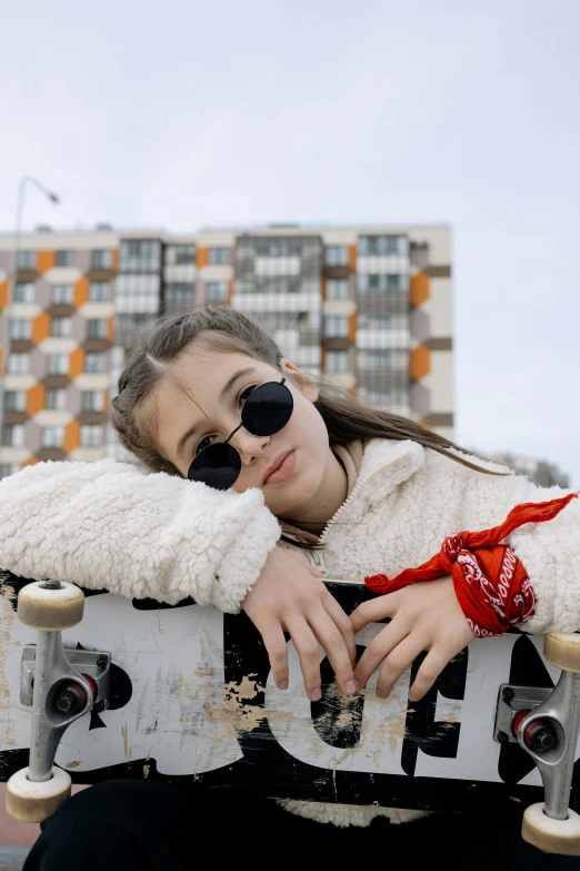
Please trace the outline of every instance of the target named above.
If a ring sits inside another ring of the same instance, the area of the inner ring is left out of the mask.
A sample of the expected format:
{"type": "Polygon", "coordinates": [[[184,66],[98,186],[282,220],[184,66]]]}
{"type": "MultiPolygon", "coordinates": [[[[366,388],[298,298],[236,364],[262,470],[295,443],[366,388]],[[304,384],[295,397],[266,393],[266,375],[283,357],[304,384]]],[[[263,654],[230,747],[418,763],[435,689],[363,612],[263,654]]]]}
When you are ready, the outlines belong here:
{"type": "Polygon", "coordinates": [[[82,620],[84,593],[74,584],[47,588],[43,581],[27,584],[18,594],[21,623],[46,632],[71,628],[82,620]]]}

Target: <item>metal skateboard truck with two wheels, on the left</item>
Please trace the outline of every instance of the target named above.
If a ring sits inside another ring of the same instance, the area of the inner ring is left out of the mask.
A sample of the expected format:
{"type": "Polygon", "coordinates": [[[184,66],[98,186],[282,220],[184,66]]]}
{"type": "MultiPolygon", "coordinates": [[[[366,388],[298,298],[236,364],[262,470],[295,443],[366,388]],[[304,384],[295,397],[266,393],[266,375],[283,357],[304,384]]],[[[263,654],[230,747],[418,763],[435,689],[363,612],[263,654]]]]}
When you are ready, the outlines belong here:
{"type": "MultiPolygon", "coordinates": [[[[32,689],[32,728],[30,761],[8,781],[7,809],[17,820],[42,822],[51,816],[70,795],[71,780],[66,771],[54,768],[54,754],[64,730],[93,707],[106,687],[100,675],[82,674],[70,661],[70,654],[89,654],[89,651],[66,652],[62,630],[72,628],[82,620],[84,594],[74,584],[59,581],[37,581],[27,584],[18,595],[18,616],[21,623],[38,630],[37,646],[30,646],[28,672],[23,669],[21,702],[32,689]],[[69,655],[68,655],[69,654],[69,655]],[[33,659],[33,676],[31,660],[33,659]]],[[[110,657],[100,660],[101,671],[109,671],[110,657]]],[[[77,657],[80,667],[82,656],[77,657]]]]}

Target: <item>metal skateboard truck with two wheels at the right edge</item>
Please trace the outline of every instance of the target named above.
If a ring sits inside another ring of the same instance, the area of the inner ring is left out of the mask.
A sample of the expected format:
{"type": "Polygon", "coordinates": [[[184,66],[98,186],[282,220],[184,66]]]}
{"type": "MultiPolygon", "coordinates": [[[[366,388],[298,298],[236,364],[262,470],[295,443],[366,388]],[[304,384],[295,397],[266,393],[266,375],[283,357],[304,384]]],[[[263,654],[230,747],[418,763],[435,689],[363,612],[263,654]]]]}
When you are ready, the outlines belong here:
{"type": "Polygon", "coordinates": [[[494,736],[517,741],[542,779],[543,803],[526,809],[523,840],[548,853],[580,855],[580,815],[568,806],[580,729],[580,634],[546,635],[543,655],[562,670],[558,685],[502,684],[494,736]]]}

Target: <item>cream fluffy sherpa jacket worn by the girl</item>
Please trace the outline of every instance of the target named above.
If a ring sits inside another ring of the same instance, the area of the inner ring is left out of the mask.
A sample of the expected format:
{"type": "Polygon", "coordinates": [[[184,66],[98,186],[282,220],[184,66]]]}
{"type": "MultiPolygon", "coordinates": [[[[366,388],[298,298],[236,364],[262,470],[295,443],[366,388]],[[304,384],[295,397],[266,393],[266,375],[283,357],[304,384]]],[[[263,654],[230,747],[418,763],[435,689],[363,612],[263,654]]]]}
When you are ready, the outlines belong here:
{"type": "MultiPolygon", "coordinates": [[[[519,503],[563,494],[514,475],[471,471],[414,442],[372,439],[357,483],[321,536],[326,570],[356,581],[393,575],[428,560],[448,535],[494,526],[519,503]]],[[[124,596],[169,603],[193,596],[236,612],[279,535],[259,491],[219,493],[110,459],[41,463],[0,483],[2,568],[124,596]]],[[[580,630],[580,499],[507,542],[537,597],[526,630],[580,630]]],[[[374,805],[284,806],[338,825],[368,825],[378,814],[393,822],[422,815],[374,805]]]]}

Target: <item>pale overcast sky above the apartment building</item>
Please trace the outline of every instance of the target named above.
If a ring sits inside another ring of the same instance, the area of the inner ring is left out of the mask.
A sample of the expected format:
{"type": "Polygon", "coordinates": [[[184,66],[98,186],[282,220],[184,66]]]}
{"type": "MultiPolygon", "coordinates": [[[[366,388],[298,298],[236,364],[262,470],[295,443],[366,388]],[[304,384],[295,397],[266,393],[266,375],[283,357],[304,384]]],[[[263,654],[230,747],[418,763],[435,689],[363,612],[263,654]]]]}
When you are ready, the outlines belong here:
{"type": "Polygon", "coordinates": [[[450,222],[457,441],[580,485],[579,0],[1,9],[0,229],[450,222]]]}

